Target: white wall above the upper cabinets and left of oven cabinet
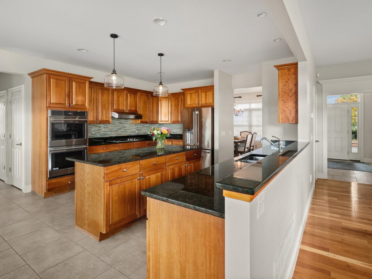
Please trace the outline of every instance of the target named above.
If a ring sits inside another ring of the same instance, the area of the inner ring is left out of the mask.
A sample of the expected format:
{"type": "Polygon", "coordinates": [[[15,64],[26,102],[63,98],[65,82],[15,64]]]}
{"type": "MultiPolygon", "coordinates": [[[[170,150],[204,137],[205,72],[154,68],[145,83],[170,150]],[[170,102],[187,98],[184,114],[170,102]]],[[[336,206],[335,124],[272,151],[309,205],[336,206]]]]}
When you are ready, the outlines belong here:
{"type": "MultiPolygon", "coordinates": [[[[0,72],[25,75],[25,100],[24,100],[24,125],[25,125],[25,186],[31,185],[31,78],[28,73],[49,68],[52,70],[64,71],[68,73],[80,74],[93,77],[92,80],[103,81],[106,72],[83,68],[62,62],[52,61],[44,58],[33,57],[12,51],[0,49],[0,72]]],[[[135,78],[125,77],[125,86],[144,90],[153,90],[155,84],[135,78]]],[[[33,162],[37,164],[37,162],[33,162]]]]}

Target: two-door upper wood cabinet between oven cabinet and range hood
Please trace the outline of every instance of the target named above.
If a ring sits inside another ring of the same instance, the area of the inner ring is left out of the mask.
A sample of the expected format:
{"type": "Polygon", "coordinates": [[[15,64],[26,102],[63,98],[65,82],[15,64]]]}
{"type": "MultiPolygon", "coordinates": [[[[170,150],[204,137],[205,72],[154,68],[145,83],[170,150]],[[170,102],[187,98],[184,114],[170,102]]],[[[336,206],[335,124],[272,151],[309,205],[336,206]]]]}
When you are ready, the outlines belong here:
{"type": "Polygon", "coordinates": [[[89,82],[89,111],[88,123],[111,123],[112,92],[110,88],[103,86],[103,83],[89,82]]]}

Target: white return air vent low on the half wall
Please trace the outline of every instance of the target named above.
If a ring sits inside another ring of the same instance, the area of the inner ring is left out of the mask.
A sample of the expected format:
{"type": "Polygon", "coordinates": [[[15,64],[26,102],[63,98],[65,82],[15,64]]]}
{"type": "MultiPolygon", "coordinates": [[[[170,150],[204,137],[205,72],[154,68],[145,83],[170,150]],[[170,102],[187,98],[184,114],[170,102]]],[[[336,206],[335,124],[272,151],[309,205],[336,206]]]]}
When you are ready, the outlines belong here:
{"type": "Polygon", "coordinates": [[[282,243],[280,244],[278,253],[274,260],[274,279],[280,279],[283,271],[285,261],[288,257],[289,249],[292,246],[295,233],[295,217],[289,222],[288,229],[284,235],[282,243]]]}

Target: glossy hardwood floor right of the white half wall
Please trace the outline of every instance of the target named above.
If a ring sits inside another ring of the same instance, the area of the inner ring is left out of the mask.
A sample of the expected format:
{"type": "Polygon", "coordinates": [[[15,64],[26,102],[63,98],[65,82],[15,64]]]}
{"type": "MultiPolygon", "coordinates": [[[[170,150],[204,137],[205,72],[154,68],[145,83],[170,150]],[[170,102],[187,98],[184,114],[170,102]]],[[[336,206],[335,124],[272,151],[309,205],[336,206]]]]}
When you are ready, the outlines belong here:
{"type": "Polygon", "coordinates": [[[372,278],[372,185],[317,180],[292,278],[372,278]]]}

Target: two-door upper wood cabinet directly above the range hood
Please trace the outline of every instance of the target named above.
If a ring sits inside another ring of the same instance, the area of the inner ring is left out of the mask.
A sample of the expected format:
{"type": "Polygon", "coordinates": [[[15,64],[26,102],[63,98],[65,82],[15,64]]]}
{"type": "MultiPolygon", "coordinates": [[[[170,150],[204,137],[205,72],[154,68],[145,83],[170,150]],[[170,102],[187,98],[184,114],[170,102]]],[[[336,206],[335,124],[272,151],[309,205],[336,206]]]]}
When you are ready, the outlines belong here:
{"type": "Polygon", "coordinates": [[[113,89],[112,110],[138,113],[138,92],[130,89],[113,89]]]}

